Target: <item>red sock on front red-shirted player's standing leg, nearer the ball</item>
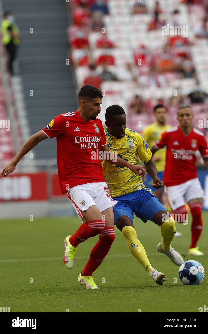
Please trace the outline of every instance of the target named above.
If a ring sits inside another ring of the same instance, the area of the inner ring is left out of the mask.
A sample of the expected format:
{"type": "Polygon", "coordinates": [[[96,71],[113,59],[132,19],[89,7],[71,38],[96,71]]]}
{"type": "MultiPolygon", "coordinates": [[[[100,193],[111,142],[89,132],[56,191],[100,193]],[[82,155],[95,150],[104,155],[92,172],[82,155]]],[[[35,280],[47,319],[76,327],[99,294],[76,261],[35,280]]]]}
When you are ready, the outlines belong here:
{"type": "Polygon", "coordinates": [[[92,276],[92,273],[101,265],[110,251],[114,239],[114,227],[105,227],[99,234],[99,240],[92,248],[90,258],[82,271],[82,276],[92,276]]]}

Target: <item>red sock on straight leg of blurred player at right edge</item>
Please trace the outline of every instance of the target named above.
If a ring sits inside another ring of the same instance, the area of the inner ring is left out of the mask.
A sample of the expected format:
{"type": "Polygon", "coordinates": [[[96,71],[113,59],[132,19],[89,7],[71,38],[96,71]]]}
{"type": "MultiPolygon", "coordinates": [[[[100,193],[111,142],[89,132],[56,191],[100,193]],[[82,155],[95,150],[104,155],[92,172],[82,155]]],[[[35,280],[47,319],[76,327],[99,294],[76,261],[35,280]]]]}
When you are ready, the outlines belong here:
{"type": "Polygon", "coordinates": [[[202,232],[202,203],[194,202],[189,205],[193,217],[191,225],[191,245],[189,248],[195,248],[202,232]]]}

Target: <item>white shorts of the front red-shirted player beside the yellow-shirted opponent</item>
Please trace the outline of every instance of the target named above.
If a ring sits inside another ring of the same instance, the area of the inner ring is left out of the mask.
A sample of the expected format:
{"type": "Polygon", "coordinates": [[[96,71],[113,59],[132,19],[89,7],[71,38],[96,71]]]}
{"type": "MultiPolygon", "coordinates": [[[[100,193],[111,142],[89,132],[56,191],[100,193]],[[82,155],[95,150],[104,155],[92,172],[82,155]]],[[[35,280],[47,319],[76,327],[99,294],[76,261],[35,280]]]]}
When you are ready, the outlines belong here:
{"type": "Polygon", "coordinates": [[[83,217],[84,210],[90,206],[96,205],[100,212],[110,207],[114,207],[117,203],[109,193],[106,182],[91,182],[81,184],[69,188],[66,192],[70,202],[72,203],[77,215],[85,221],[83,217]]]}

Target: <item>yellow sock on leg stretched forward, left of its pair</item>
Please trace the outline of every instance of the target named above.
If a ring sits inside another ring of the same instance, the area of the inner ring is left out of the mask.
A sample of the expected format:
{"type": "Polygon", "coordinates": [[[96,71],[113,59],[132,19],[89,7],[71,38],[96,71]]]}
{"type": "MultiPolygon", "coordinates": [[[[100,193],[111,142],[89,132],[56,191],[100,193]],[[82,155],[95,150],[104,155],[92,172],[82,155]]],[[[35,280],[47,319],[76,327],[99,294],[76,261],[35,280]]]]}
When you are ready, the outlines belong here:
{"type": "Polygon", "coordinates": [[[153,271],[153,267],[148,260],[145,248],[141,242],[137,239],[137,232],[132,226],[125,226],[122,230],[123,236],[126,239],[127,246],[132,255],[141,263],[142,267],[150,274],[153,271]]]}

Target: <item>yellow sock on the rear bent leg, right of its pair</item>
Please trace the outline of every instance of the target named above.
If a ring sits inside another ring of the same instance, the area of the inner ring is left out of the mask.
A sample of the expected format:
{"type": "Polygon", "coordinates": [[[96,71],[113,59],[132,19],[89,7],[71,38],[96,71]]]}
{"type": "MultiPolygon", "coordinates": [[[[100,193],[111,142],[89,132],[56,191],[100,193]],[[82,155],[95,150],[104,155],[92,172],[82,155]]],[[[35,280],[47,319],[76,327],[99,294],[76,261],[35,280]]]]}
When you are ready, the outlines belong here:
{"type": "Polygon", "coordinates": [[[173,240],[175,234],[176,234],[176,225],[175,221],[172,216],[168,218],[162,225],[160,225],[161,228],[161,235],[163,237],[163,240],[161,242],[161,247],[164,249],[165,252],[170,251],[171,249],[171,241],[173,240]]]}

